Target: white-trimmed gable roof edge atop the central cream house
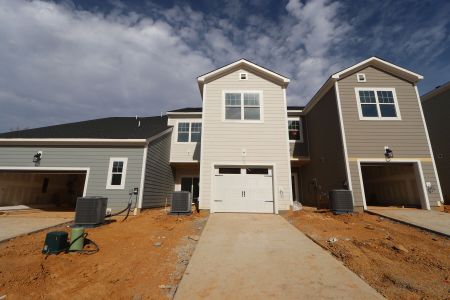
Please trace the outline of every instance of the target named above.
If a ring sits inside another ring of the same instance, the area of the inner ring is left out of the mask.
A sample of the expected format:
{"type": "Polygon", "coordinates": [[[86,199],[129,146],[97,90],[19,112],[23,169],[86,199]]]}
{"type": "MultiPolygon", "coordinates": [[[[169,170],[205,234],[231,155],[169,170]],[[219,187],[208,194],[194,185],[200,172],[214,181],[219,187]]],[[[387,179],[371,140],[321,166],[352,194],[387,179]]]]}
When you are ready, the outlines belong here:
{"type": "Polygon", "coordinates": [[[238,61],[235,61],[231,64],[225,65],[223,67],[220,67],[218,69],[215,69],[213,71],[210,71],[206,74],[203,74],[203,75],[200,75],[199,77],[197,77],[197,82],[198,82],[198,86],[200,88],[200,93],[203,94],[203,85],[204,85],[205,81],[208,80],[208,78],[211,78],[214,76],[219,76],[220,74],[224,74],[232,68],[244,67],[244,66],[269,76],[270,78],[274,79],[276,82],[279,82],[283,86],[287,86],[290,82],[289,78],[287,78],[281,74],[278,74],[267,68],[261,67],[260,65],[257,65],[249,60],[241,58],[238,61]]]}

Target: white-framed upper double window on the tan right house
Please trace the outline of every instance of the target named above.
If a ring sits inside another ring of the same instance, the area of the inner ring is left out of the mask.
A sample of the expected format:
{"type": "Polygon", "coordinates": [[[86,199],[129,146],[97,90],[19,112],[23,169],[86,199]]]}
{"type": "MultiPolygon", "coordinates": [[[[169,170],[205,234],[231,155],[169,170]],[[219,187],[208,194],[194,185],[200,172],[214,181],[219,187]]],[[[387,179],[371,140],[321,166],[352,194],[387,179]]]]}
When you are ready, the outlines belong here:
{"type": "Polygon", "coordinates": [[[356,88],[361,120],[401,120],[393,88],[356,88]]]}

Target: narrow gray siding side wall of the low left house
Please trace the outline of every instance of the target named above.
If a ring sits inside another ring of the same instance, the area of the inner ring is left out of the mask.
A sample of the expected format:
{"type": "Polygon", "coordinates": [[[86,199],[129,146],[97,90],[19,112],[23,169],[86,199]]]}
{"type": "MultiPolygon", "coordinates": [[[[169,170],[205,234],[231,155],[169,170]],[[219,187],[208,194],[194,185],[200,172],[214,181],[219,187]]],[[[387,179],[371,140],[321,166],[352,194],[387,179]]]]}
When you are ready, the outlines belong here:
{"type": "Polygon", "coordinates": [[[144,179],[142,208],[161,207],[170,201],[174,176],[170,166],[172,133],[168,133],[148,145],[144,179]]]}

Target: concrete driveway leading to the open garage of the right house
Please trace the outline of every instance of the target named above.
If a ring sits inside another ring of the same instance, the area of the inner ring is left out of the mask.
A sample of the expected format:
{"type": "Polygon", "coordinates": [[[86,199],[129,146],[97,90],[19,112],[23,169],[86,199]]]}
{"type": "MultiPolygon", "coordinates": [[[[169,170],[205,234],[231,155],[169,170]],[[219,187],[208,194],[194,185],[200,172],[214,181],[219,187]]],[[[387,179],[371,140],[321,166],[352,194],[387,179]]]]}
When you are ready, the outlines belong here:
{"type": "Polygon", "coordinates": [[[425,209],[369,207],[369,212],[450,237],[450,214],[425,209]]]}

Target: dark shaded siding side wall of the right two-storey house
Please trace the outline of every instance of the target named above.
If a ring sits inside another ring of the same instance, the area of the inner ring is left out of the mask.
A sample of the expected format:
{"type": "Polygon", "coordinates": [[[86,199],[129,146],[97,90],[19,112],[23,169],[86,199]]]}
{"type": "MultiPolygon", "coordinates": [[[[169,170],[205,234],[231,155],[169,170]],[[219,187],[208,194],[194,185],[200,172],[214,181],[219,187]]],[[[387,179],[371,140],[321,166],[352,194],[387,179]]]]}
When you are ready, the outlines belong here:
{"type": "Polygon", "coordinates": [[[331,89],[306,115],[310,162],[300,167],[303,204],[328,206],[328,192],[340,189],[346,181],[344,150],[334,89],[331,89]],[[324,121],[326,120],[326,121],[324,121]],[[312,182],[320,186],[315,193],[312,182]]]}

